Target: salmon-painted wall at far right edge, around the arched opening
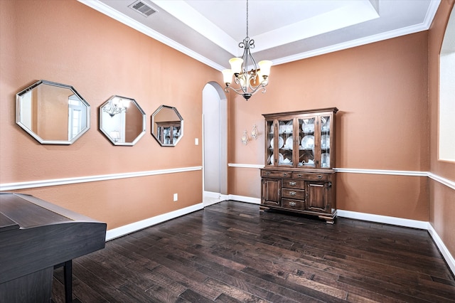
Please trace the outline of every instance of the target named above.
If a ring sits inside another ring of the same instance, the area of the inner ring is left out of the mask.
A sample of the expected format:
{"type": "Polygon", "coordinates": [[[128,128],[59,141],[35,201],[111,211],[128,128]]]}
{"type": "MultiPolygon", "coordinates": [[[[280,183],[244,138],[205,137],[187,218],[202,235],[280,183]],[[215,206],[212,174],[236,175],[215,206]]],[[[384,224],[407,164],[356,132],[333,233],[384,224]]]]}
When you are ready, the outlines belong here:
{"type": "MultiPolygon", "coordinates": [[[[429,171],[455,182],[455,163],[438,160],[439,53],[454,0],[441,1],[429,29],[429,171]]],[[[455,190],[430,179],[429,222],[455,256],[455,190]]]]}

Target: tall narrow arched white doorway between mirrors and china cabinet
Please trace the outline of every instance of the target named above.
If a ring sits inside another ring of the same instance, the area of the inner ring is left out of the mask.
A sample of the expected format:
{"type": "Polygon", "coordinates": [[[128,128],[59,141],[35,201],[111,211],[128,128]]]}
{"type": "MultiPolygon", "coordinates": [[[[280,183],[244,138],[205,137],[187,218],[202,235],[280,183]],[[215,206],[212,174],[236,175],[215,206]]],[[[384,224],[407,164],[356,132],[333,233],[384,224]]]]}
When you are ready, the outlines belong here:
{"type": "Polygon", "coordinates": [[[228,100],[223,88],[203,88],[203,205],[224,201],[228,194],[228,100]]]}

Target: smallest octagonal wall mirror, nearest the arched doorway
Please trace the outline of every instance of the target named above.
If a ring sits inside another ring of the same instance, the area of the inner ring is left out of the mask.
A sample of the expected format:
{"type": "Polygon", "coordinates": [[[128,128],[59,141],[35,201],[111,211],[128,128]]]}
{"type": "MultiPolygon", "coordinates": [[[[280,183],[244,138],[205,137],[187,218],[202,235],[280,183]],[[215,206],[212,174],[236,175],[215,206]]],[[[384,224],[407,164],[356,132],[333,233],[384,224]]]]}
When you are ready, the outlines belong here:
{"type": "Polygon", "coordinates": [[[162,147],[176,146],[183,137],[183,118],[176,107],[158,107],[151,115],[151,134],[162,147]]]}

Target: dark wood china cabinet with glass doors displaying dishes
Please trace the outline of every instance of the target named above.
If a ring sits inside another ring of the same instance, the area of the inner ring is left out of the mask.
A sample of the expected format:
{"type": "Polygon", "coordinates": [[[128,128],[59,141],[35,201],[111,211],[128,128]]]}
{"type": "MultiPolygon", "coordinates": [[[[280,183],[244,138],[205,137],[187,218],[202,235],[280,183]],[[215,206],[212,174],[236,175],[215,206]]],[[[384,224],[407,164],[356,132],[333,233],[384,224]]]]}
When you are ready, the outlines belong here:
{"type": "Polygon", "coordinates": [[[336,218],[336,107],[264,114],[261,210],[336,218]]]}

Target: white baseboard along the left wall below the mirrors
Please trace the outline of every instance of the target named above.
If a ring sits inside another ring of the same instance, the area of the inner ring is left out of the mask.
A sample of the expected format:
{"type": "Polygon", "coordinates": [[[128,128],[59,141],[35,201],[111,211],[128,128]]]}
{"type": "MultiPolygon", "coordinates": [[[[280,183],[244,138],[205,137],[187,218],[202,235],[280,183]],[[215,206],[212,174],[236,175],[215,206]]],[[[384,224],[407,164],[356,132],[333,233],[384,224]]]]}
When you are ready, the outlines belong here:
{"type": "Polygon", "coordinates": [[[171,211],[170,213],[164,213],[159,216],[154,216],[145,220],[137,221],[128,225],[120,226],[119,228],[114,228],[107,230],[106,232],[106,241],[122,237],[123,235],[128,235],[129,233],[134,233],[135,231],[148,228],[152,225],[162,223],[173,218],[177,218],[188,213],[193,213],[194,211],[200,211],[203,209],[203,203],[198,203],[193,206],[188,206],[186,208],[178,209],[177,211],[171,211]]]}

